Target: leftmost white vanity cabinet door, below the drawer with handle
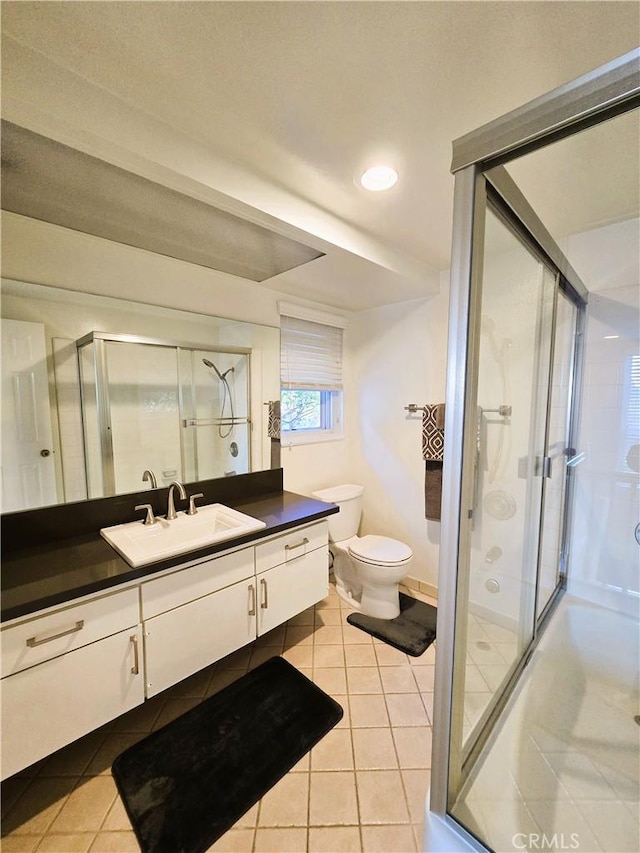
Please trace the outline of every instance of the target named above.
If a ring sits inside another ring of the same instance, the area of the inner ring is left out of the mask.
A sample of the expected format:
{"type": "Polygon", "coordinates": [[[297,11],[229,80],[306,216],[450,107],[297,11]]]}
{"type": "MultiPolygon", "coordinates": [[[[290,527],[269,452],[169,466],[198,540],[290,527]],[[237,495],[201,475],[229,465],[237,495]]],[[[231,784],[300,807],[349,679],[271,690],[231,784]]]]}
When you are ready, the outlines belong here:
{"type": "Polygon", "coordinates": [[[140,627],[2,680],[2,778],[144,701],[140,627]]]}

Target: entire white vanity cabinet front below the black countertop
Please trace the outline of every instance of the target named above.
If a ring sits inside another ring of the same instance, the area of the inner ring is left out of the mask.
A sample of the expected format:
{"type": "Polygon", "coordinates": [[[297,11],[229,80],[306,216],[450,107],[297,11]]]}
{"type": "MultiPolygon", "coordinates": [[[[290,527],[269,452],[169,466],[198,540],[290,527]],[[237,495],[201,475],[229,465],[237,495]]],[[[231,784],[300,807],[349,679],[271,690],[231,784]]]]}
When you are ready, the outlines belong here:
{"type": "Polygon", "coordinates": [[[312,522],[2,629],[6,778],[323,599],[312,522]]]}

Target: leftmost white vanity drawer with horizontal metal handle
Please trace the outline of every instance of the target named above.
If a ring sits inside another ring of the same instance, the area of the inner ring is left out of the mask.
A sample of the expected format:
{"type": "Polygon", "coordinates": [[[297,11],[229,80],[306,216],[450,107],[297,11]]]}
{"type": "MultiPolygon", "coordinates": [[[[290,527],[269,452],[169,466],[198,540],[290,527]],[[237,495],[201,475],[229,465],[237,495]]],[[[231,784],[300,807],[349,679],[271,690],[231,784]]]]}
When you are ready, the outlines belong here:
{"type": "Polygon", "coordinates": [[[2,677],[82,648],[140,621],[138,590],[85,601],[2,631],[2,677]]]}

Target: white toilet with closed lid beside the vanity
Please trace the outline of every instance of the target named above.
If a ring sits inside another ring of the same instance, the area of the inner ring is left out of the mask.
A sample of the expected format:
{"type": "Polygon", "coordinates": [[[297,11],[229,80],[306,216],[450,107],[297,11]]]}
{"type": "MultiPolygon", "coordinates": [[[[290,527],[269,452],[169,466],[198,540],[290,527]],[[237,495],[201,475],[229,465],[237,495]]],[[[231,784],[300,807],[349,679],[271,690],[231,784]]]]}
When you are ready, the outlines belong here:
{"type": "Polygon", "coordinates": [[[400,613],[398,584],[408,574],[413,552],[397,539],[357,535],[363,492],[364,486],[345,484],[311,495],[340,507],[339,513],[327,518],[340,598],[365,616],[395,619],[400,613]]]}

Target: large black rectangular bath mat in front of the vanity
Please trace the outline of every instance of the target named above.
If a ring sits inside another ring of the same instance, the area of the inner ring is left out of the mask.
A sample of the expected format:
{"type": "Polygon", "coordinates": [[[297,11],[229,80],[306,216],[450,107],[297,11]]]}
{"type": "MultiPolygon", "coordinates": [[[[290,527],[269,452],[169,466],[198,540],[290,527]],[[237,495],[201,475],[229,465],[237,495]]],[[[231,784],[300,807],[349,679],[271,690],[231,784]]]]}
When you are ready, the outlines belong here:
{"type": "Polygon", "coordinates": [[[342,718],[274,657],[113,763],[143,853],[203,853],[342,718]]]}

